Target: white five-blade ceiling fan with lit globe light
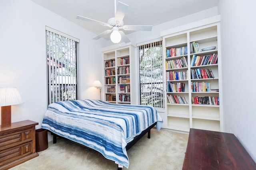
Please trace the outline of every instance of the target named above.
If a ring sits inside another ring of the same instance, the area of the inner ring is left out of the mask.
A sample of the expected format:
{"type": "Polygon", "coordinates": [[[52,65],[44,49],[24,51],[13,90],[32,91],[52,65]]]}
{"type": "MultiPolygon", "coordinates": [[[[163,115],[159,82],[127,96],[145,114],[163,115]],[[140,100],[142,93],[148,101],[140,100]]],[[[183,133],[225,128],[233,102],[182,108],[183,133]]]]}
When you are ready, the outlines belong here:
{"type": "Polygon", "coordinates": [[[116,7],[116,1],[115,1],[115,17],[110,18],[108,20],[108,23],[104,23],[101,21],[93,20],[90,18],[86,18],[83,16],[77,16],[77,19],[84,20],[84,21],[89,21],[93,23],[97,23],[103,26],[110,27],[111,29],[108,29],[93,39],[100,39],[101,37],[104,37],[105,35],[111,33],[110,39],[113,43],[119,43],[121,41],[121,38],[125,43],[130,42],[130,39],[124,34],[123,31],[120,31],[120,29],[124,30],[130,30],[130,31],[151,31],[152,30],[152,25],[124,25],[124,15],[126,13],[126,10],[128,8],[128,5],[118,2],[118,5],[116,7]]]}

